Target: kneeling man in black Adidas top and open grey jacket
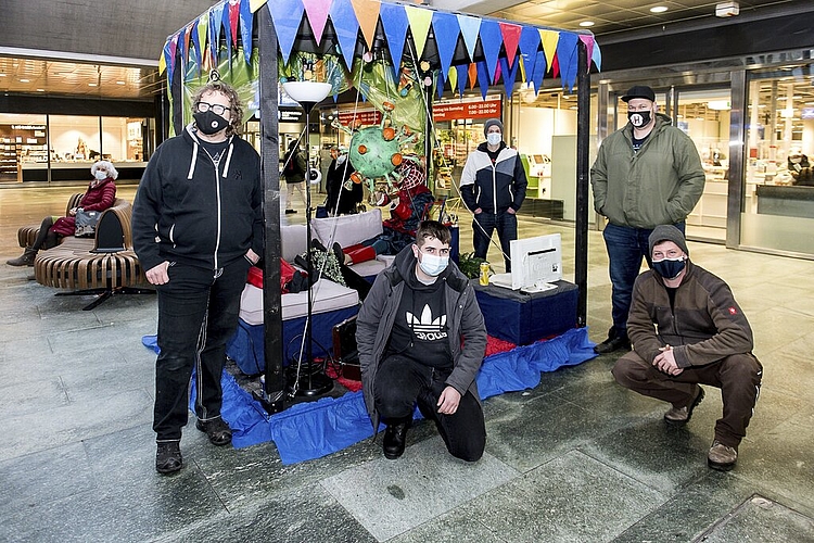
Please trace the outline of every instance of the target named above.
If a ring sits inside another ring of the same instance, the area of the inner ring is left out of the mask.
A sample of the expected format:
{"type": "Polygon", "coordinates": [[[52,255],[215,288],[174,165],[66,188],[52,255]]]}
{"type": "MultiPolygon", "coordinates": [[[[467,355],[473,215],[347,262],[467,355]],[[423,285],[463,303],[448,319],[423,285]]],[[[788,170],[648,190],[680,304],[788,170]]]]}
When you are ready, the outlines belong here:
{"type": "Polygon", "coordinates": [[[418,404],[433,420],[449,454],[481,458],[486,444],[475,375],[486,350],[486,327],[467,277],[449,262],[451,233],[425,220],[416,242],[379,274],[356,319],[365,403],[384,433],[384,456],[405,450],[418,404]]]}

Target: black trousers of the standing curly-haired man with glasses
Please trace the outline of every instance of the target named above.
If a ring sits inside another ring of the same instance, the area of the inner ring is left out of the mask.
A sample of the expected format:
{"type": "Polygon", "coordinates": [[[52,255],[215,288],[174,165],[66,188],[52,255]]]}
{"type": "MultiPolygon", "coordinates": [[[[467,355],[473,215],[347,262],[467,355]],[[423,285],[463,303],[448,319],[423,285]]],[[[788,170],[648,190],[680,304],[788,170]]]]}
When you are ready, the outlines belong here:
{"type": "Polygon", "coordinates": [[[195,368],[195,415],[220,417],[220,374],[226,342],[238,327],[240,294],[249,261],[239,258],[216,276],[213,270],[175,265],[158,291],[158,346],[155,361],[153,430],[157,441],[181,439],[187,425],[189,382],[195,368]]]}

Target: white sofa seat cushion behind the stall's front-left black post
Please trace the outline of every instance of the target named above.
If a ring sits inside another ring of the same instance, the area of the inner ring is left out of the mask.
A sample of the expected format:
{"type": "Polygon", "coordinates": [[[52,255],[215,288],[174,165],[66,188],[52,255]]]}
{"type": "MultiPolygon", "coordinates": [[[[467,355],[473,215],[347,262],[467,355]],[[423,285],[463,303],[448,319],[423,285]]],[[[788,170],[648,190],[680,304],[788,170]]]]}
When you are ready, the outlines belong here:
{"type": "MultiPolygon", "coordinates": [[[[313,289],[314,314],[328,313],[359,303],[359,293],[328,279],[318,280],[313,289]]],[[[282,319],[304,317],[308,313],[308,292],[283,294],[282,319]]],[[[249,325],[263,324],[263,290],[254,285],[246,285],[240,295],[240,318],[249,325]]]]}

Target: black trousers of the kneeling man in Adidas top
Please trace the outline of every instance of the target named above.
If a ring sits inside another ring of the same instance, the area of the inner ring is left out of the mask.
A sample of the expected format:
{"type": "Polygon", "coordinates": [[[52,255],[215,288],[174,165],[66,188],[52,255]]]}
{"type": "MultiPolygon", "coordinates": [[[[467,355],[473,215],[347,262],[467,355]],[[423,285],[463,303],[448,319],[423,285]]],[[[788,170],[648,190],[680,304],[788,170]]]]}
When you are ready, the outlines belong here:
{"type": "Polygon", "coordinates": [[[453,415],[438,413],[438,397],[446,388],[450,369],[438,370],[393,355],[384,358],[376,372],[376,409],[385,421],[412,418],[416,403],[424,418],[435,421],[449,454],[467,462],[483,456],[486,425],[481,403],[467,391],[453,415]]]}

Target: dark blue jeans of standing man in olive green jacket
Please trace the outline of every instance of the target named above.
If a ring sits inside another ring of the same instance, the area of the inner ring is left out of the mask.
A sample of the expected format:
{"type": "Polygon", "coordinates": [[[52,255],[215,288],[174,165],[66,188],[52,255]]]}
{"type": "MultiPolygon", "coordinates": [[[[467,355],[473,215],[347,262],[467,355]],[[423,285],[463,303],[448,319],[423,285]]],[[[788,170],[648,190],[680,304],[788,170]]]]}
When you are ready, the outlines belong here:
{"type": "MultiPolygon", "coordinates": [[[[674,226],[684,233],[684,223],[677,223],[674,226]]],[[[610,223],[602,232],[605,247],[608,248],[610,278],[613,287],[611,294],[613,328],[618,333],[627,330],[633,283],[641,269],[641,258],[647,258],[647,265],[651,266],[648,245],[651,232],[652,229],[648,228],[629,228],[610,223]]]]}

